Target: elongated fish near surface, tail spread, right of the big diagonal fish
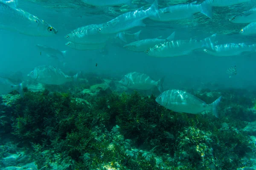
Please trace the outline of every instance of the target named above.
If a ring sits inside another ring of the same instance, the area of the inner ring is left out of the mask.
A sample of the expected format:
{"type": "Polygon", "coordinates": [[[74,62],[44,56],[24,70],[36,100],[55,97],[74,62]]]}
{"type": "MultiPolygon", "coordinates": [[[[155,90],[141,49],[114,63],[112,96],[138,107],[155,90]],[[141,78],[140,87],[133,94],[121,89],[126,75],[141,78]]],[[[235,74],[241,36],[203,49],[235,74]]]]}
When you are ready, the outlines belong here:
{"type": "Polygon", "coordinates": [[[212,18],[212,6],[207,2],[201,4],[193,2],[161,8],[158,10],[159,17],[151,16],[149,18],[155,21],[169,22],[173,20],[193,19],[193,14],[198,12],[212,18]]]}

